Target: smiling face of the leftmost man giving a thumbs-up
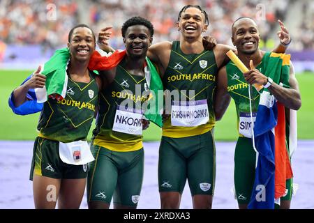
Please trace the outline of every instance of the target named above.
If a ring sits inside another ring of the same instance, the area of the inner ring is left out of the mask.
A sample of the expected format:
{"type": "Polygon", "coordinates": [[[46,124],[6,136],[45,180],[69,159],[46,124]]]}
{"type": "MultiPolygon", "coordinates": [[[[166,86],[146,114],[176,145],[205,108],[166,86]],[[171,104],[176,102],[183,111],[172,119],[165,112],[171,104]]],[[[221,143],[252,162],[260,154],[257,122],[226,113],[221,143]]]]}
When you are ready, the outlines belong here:
{"type": "Polygon", "coordinates": [[[91,29],[87,27],[77,27],[70,36],[68,48],[71,57],[77,61],[89,61],[91,54],[95,50],[95,38],[91,29]]]}

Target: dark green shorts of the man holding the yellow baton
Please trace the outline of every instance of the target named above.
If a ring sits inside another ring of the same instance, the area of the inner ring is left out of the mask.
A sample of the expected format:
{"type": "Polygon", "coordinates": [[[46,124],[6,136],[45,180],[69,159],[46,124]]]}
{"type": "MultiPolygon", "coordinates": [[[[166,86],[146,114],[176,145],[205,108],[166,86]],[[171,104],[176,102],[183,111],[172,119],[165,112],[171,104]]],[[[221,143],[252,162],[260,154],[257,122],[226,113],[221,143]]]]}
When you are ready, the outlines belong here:
{"type": "MultiPolygon", "coordinates": [[[[240,204],[247,204],[255,180],[256,153],[253,148],[252,139],[239,137],[234,153],[234,187],[237,201],[240,204]]],[[[286,180],[287,194],[281,200],[291,201],[292,179],[286,180]]]]}

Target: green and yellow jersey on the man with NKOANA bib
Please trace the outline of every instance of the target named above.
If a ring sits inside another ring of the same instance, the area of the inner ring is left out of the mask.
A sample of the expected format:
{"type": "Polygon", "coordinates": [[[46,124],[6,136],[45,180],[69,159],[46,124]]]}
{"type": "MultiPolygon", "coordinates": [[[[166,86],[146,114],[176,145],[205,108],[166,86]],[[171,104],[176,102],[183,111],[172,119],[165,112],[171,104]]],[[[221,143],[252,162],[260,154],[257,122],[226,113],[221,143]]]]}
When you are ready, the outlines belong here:
{"type": "Polygon", "coordinates": [[[130,127],[128,130],[131,127],[142,128],[139,117],[143,112],[142,105],[149,95],[145,77],[131,75],[124,68],[125,64],[126,60],[123,59],[117,66],[114,81],[100,91],[99,112],[94,130],[94,145],[121,152],[137,151],[143,147],[141,134],[121,132],[115,126],[125,123],[130,127]],[[133,117],[137,118],[123,117],[124,112],[121,110],[125,108],[130,113],[134,112],[133,117]],[[121,112],[121,116],[117,112],[121,112]]]}

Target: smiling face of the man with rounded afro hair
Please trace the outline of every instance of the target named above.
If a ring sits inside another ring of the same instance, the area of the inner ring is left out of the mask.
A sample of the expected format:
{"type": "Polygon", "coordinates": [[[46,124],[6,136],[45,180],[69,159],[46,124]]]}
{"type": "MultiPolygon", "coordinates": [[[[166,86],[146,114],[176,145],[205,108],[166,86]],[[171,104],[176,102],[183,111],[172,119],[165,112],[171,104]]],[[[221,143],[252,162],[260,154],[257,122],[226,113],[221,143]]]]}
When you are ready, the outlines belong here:
{"type": "Polygon", "coordinates": [[[133,58],[145,57],[152,41],[153,38],[147,26],[134,25],[126,29],[124,43],[128,56],[133,58]]]}

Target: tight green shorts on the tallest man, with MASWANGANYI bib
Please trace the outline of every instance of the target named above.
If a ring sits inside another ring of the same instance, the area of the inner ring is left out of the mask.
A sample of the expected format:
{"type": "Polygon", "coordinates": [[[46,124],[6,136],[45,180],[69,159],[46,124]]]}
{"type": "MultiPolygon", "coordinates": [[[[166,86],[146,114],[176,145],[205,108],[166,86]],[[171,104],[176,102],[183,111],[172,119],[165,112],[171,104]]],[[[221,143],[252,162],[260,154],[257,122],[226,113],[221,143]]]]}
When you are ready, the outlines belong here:
{"type": "Polygon", "coordinates": [[[192,196],[214,194],[216,148],[212,132],[193,137],[162,137],[159,148],[159,192],[182,194],[186,179],[192,196]]]}

